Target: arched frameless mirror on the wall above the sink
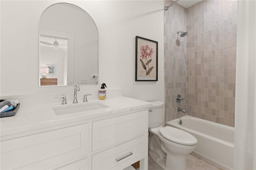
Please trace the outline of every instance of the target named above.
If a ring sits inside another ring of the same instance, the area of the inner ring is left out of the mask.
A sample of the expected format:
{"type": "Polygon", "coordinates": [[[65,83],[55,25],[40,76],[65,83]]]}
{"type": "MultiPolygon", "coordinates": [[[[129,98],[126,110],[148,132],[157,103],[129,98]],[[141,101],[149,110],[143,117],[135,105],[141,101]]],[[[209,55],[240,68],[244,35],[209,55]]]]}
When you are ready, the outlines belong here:
{"type": "Polygon", "coordinates": [[[46,8],[39,22],[39,84],[98,84],[98,30],[91,16],[68,3],[46,8]]]}

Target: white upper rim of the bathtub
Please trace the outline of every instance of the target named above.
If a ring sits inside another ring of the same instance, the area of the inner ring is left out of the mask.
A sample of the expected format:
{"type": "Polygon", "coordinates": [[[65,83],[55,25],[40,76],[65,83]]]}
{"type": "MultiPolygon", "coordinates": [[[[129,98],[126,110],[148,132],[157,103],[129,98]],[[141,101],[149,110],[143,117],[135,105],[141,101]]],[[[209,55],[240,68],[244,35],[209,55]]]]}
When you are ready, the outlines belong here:
{"type": "MultiPolygon", "coordinates": [[[[188,116],[188,115],[186,115],[186,116],[184,116],[184,117],[188,117],[188,118],[190,118],[190,119],[200,119],[200,118],[196,118],[196,117],[192,117],[192,116],[188,116]]],[[[174,119],[174,120],[172,120],[172,121],[168,121],[168,122],[166,122],[166,125],[170,125],[171,127],[176,127],[176,128],[182,129],[182,130],[186,130],[186,131],[188,131],[188,132],[191,132],[191,133],[195,133],[195,134],[204,136],[204,137],[206,137],[206,138],[208,138],[208,139],[211,139],[211,140],[217,140],[217,141],[221,142],[222,144],[226,144],[226,145],[228,145],[228,146],[234,148],[234,144],[231,143],[231,142],[228,142],[228,141],[226,141],[226,140],[222,140],[222,139],[220,139],[220,138],[216,138],[216,137],[210,136],[210,135],[208,135],[208,134],[204,134],[204,133],[202,133],[202,132],[198,132],[198,131],[196,131],[196,130],[192,130],[192,129],[190,129],[190,128],[187,128],[187,127],[184,127],[184,126],[180,125],[180,124],[179,124],[180,119],[182,120],[182,117],[180,117],[180,118],[178,118],[178,119],[174,119]]],[[[199,120],[199,121],[206,121],[206,120],[199,120]]],[[[208,122],[210,122],[210,121],[208,121],[208,122]]],[[[210,122],[210,123],[212,123],[213,125],[217,124],[217,123],[214,123],[214,122],[210,122]]],[[[220,125],[221,125],[221,124],[220,124],[220,125]]],[[[226,125],[223,125],[223,126],[228,127],[228,126],[226,126],[226,125]]],[[[232,127],[230,127],[230,128],[232,129],[232,127]]],[[[233,129],[234,129],[234,128],[233,128],[233,129]]]]}

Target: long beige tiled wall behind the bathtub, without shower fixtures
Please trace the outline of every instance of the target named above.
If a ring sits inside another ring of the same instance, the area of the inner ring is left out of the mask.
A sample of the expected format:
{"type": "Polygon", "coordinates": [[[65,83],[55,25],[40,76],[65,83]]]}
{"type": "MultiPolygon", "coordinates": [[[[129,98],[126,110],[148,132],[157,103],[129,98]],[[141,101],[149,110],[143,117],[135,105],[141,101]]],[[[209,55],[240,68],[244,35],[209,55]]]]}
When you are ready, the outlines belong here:
{"type": "Polygon", "coordinates": [[[237,1],[187,10],[188,115],[234,127],[237,1]]]}

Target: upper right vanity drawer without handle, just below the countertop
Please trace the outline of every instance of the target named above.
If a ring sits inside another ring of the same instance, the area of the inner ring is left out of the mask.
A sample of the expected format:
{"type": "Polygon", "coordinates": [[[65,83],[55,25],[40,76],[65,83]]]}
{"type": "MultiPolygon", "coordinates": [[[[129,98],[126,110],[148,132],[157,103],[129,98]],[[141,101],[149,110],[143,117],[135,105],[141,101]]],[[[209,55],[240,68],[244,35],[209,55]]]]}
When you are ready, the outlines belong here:
{"type": "Polygon", "coordinates": [[[92,151],[125,142],[147,132],[147,110],[95,121],[92,123],[92,151]]]}

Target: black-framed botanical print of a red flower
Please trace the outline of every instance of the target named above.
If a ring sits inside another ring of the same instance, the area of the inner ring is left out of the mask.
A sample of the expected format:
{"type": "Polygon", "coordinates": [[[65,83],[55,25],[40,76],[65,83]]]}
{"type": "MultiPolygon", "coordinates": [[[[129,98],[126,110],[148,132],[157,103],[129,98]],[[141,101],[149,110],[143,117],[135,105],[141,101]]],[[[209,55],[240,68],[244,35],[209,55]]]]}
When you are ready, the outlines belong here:
{"type": "Polygon", "coordinates": [[[136,36],[135,81],[158,81],[158,42],[136,36]]]}

